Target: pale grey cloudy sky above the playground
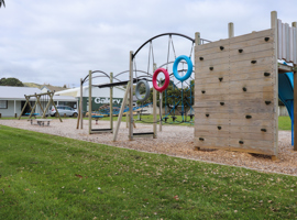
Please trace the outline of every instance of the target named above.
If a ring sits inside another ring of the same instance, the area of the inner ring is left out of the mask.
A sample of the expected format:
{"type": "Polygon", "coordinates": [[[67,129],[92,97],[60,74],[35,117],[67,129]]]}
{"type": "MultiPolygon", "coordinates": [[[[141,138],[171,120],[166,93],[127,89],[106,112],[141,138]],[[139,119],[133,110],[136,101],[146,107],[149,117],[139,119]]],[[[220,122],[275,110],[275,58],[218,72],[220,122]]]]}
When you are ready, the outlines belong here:
{"type": "MultiPolygon", "coordinates": [[[[130,51],[162,33],[218,41],[271,28],[271,11],[284,23],[297,21],[295,0],[4,0],[0,8],[0,78],[77,87],[89,70],[114,75],[129,69],[130,51]]],[[[190,55],[191,42],[168,36],[143,47],[138,69],[152,73],[175,56],[190,55]],[[175,53],[174,53],[175,52],[175,53]],[[148,53],[151,56],[148,56],[148,53]],[[154,55],[154,57],[153,57],[154,55]],[[150,63],[148,63],[150,57],[150,63]]],[[[121,80],[129,75],[122,74],[121,80]]],[[[96,79],[98,84],[107,79],[96,79]]]]}

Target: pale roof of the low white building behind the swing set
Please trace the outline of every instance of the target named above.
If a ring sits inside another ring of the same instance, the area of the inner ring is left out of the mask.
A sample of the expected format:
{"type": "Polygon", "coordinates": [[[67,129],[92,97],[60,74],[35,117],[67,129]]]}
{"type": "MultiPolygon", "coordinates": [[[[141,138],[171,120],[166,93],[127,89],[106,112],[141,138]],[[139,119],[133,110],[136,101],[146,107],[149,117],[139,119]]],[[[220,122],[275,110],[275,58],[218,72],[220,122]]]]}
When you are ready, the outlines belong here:
{"type": "MultiPolygon", "coordinates": [[[[13,86],[0,86],[0,99],[4,100],[25,100],[24,95],[42,94],[38,88],[31,87],[13,87],[13,86]]],[[[54,96],[55,101],[76,101],[74,97],[70,96],[54,96]]],[[[34,97],[32,97],[34,100],[34,97]]]]}

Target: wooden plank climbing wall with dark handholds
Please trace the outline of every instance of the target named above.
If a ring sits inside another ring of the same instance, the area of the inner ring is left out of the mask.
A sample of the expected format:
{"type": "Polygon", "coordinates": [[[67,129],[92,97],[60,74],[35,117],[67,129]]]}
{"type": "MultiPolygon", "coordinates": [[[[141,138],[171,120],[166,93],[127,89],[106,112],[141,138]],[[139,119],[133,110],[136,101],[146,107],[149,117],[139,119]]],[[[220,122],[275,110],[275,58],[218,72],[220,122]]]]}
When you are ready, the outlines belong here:
{"type": "Polygon", "coordinates": [[[195,146],[277,155],[274,30],[195,48],[195,146]]]}

